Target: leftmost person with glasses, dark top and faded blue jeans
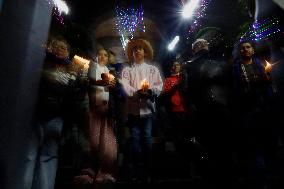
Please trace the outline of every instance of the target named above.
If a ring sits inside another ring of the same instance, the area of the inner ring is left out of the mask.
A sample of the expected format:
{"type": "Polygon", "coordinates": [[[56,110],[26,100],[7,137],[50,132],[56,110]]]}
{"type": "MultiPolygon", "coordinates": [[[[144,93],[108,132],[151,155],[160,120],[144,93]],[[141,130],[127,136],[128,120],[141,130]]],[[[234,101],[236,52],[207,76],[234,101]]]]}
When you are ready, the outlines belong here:
{"type": "Polygon", "coordinates": [[[63,38],[54,39],[48,45],[43,65],[24,189],[54,188],[58,146],[76,77],[68,43],[63,38]]]}

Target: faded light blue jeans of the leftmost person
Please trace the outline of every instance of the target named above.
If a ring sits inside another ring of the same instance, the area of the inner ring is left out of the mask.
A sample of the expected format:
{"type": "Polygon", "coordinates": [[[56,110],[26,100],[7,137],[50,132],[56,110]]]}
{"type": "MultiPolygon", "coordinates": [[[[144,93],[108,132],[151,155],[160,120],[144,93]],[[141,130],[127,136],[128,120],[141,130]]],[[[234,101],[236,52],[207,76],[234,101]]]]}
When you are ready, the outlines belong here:
{"type": "Polygon", "coordinates": [[[60,117],[36,124],[23,167],[23,189],[54,188],[62,129],[63,119],[60,117]]]}

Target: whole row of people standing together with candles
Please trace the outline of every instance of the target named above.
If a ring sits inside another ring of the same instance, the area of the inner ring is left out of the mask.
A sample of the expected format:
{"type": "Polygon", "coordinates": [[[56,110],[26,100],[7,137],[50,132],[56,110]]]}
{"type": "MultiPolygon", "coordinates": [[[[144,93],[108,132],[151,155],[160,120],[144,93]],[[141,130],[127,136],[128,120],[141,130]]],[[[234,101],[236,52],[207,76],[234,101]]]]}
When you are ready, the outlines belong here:
{"type": "Polygon", "coordinates": [[[33,176],[25,188],[54,187],[58,148],[73,125],[84,130],[87,141],[74,184],[115,183],[126,167],[129,182],[151,182],[153,128],[157,120],[164,123],[161,109],[170,120],[161,128],[164,142],[171,141],[190,165],[189,177],[230,188],[234,179],[263,184],[268,175],[281,176],[275,161],[283,158],[278,153],[284,141],[275,115],[282,101],[273,67],[257,55],[253,42],[241,41],[236,48],[228,62],[198,38],[190,59],[171,60],[164,78],[145,39],[128,42],[128,64],[116,63],[114,52],[100,48],[88,68],[69,58],[66,40],[53,39],[26,164],[33,176]]]}

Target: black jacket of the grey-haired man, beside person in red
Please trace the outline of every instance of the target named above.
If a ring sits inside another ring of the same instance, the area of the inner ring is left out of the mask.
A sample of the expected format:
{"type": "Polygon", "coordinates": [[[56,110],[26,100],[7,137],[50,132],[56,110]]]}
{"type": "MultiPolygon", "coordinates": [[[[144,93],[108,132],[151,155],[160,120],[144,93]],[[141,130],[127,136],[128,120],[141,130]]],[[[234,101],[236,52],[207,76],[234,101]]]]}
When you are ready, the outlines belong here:
{"type": "Polygon", "coordinates": [[[198,111],[228,107],[231,72],[225,61],[212,59],[207,50],[201,50],[187,61],[184,69],[187,96],[198,111]]]}

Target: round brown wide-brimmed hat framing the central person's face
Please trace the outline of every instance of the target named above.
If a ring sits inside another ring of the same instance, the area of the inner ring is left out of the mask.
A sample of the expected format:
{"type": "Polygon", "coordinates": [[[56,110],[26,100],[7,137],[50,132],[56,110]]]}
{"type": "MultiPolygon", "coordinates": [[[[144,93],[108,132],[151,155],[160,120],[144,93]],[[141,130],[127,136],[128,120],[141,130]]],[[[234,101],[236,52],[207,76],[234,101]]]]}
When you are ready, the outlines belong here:
{"type": "Polygon", "coordinates": [[[130,62],[133,62],[133,48],[137,46],[143,47],[145,51],[145,59],[153,59],[154,51],[149,41],[145,39],[132,39],[126,46],[127,57],[130,62]]]}

